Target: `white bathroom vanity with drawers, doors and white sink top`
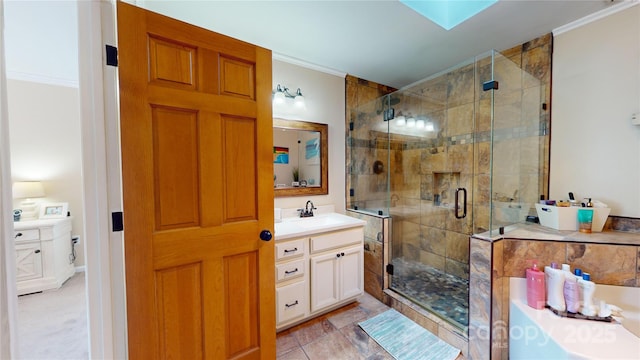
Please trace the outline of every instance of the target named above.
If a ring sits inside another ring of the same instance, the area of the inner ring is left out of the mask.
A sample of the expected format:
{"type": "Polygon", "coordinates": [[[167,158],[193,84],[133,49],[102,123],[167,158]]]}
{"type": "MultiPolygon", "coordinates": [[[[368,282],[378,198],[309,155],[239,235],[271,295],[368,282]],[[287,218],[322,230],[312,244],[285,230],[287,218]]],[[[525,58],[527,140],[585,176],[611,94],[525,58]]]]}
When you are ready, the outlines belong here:
{"type": "Polygon", "coordinates": [[[337,213],[275,224],[278,331],[363,294],[364,225],[337,213]]]}

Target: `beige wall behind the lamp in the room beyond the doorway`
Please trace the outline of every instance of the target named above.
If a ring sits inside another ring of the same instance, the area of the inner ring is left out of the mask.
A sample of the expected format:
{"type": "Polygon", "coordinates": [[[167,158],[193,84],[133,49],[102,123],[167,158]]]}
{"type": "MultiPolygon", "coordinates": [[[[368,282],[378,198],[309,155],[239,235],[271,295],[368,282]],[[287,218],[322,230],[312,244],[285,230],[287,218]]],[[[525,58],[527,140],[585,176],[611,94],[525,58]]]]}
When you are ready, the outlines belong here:
{"type": "MultiPolygon", "coordinates": [[[[46,197],[68,202],[73,216],[75,266],[84,265],[80,113],[77,87],[20,80],[7,84],[13,181],[41,180],[46,197]]],[[[18,207],[21,200],[14,200],[18,207]]]]}

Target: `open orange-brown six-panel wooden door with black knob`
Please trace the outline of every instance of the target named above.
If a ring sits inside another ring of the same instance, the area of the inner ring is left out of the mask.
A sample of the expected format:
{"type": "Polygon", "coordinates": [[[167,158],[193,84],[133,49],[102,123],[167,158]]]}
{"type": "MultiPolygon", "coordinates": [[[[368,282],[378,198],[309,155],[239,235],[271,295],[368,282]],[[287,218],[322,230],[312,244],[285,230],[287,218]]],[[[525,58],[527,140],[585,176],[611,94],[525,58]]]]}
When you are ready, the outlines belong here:
{"type": "Polygon", "coordinates": [[[271,52],[118,2],[130,359],[274,359],[271,52]]]}

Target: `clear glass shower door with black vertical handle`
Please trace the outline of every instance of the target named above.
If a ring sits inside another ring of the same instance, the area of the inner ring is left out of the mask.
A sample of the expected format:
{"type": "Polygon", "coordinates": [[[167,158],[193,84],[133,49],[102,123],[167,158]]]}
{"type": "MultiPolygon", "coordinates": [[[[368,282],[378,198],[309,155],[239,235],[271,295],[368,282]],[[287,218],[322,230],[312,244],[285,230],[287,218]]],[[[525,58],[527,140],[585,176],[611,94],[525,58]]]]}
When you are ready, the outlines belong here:
{"type": "Polygon", "coordinates": [[[392,94],[390,288],[459,327],[468,324],[474,231],[476,63],[392,94]]]}

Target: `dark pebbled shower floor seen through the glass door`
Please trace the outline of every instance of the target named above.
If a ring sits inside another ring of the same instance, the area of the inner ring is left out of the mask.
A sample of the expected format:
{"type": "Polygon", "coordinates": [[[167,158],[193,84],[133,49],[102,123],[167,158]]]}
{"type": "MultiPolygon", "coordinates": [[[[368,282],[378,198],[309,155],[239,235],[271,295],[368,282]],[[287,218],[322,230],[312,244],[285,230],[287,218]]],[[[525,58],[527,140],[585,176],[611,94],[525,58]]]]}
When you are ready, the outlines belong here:
{"type": "Polygon", "coordinates": [[[432,266],[393,259],[391,288],[460,327],[469,325],[469,280],[432,266]]]}

